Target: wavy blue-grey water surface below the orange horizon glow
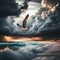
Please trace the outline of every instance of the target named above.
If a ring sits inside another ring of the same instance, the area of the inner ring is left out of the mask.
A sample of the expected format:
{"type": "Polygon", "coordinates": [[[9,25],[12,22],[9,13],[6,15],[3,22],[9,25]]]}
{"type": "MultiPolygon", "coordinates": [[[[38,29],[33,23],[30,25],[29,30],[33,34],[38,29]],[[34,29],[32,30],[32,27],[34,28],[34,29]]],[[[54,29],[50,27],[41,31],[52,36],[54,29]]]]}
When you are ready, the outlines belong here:
{"type": "Polygon", "coordinates": [[[57,42],[0,43],[1,49],[0,60],[60,60],[60,43],[57,42]]]}

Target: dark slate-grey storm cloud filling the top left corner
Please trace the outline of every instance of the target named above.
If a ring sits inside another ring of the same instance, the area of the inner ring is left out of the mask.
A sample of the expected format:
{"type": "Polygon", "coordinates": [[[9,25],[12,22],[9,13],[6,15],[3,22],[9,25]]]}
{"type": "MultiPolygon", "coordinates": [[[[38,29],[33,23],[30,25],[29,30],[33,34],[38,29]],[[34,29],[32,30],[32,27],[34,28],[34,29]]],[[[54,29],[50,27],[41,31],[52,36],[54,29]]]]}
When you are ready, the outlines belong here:
{"type": "Polygon", "coordinates": [[[21,13],[21,9],[26,9],[26,5],[28,7],[28,2],[30,0],[25,0],[24,6],[19,8],[17,0],[0,0],[0,17],[6,16],[17,16],[21,13]]]}

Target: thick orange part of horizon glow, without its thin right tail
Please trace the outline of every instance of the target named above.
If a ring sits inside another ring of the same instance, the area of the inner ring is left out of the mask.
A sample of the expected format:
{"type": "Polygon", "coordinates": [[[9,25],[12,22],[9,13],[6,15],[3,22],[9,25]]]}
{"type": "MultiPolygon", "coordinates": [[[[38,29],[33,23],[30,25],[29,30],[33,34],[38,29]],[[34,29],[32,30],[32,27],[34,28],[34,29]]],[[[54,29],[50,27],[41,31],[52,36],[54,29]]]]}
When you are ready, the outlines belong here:
{"type": "Polygon", "coordinates": [[[25,41],[42,41],[42,37],[20,37],[20,36],[3,36],[4,42],[25,42],[25,41]]]}

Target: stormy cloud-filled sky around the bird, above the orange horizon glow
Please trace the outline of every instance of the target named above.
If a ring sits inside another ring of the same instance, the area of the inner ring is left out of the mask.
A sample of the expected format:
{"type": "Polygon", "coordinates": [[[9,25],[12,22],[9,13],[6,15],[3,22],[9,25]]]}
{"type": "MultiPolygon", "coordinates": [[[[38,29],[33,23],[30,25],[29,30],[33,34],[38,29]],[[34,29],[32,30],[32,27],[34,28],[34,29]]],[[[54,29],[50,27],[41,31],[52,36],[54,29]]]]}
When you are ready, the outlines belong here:
{"type": "MultiPolygon", "coordinates": [[[[48,1],[60,3],[59,0],[48,1]]],[[[1,0],[0,8],[0,35],[44,36],[60,33],[60,5],[50,13],[41,6],[41,0],[1,0]],[[22,26],[27,14],[29,18],[24,29],[17,23],[22,26]]]]}

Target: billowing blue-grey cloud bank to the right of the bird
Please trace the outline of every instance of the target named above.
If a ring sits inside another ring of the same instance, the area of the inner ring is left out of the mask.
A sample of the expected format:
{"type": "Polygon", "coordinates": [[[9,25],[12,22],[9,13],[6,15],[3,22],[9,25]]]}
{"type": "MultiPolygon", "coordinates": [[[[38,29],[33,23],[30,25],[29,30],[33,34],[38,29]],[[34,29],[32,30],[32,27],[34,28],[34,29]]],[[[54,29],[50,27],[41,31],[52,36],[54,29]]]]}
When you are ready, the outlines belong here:
{"type": "Polygon", "coordinates": [[[49,13],[49,10],[46,10],[47,13],[44,10],[42,10],[43,15],[39,12],[40,15],[36,16],[37,19],[33,23],[32,27],[30,28],[30,30],[28,32],[31,32],[31,33],[37,32],[39,35],[59,34],[60,23],[58,21],[60,20],[60,18],[59,18],[60,5],[56,6],[55,9],[56,10],[54,12],[50,12],[50,13],[49,13]],[[46,14],[47,14],[47,16],[46,16],[46,14]],[[46,32],[48,32],[48,33],[46,33],[46,32]]]}

